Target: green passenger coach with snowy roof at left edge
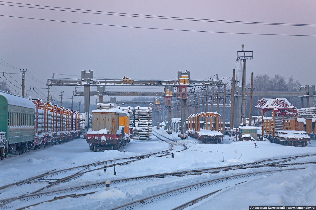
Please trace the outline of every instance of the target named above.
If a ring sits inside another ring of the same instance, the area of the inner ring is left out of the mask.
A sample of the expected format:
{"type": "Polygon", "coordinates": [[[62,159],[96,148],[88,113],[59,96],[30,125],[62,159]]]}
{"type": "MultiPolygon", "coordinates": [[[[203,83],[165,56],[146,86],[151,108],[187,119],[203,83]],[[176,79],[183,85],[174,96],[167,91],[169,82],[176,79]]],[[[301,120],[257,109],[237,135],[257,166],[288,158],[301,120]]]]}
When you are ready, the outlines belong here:
{"type": "Polygon", "coordinates": [[[14,94],[0,91],[0,131],[6,132],[6,155],[33,147],[34,103],[14,94]]]}

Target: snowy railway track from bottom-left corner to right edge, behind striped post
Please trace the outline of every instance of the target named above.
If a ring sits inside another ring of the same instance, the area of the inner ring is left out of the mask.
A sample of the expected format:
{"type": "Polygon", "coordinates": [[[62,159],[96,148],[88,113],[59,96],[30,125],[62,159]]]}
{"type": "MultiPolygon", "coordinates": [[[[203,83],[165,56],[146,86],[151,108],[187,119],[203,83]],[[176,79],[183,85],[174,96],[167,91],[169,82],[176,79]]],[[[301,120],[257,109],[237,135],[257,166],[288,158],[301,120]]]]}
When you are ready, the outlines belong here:
{"type": "MultiPolygon", "coordinates": [[[[301,156],[297,156],[297,157],[301,157],[301,156]]],[[[288,158],[287,158],[288,159],[288,158]]],[[[291,157],[290,159],[293,159],[293,157],[291,157]]],[[[279,159],[276,159],[279,160],[279,159]]],[[[270,160],[269,160],[270,161],[270,160]]],[[[263,161],[258,161],[258,163],[261,163],[263,161]]],[[[280,161],[277,161],[280,162],[280,161]]],[[[277,163],[276,162],[276,163],[277,163]]],[[[208,169],[203,169],[203,170],[191,170],[191,171],[182,171],[182,172],[174,172],[174,173],[162,173],[162,174],[153,174],[153,175],[148,175],[148,176],[141,176],[141,177],[132,177],[132,178],[127,178],[127,179],[117,179],[117,180],[112,180],[111,181],[111,185],[113,187],[119,187],[120,184],[126,184],[126,183],[130,183],[131,181],[135,181],[135,180],[152,180],[153,178],[164,178],[164,177],[168,177],[168,176],[179,176],[179,177],[183,177],[185,175],[200,175],[202,173],[219,173],[220,171],[228,171],[228,170],[236,170],[236,169],[246,169],[246,168],[263,168],[263,167],[289,167],[289,166],[295,166],[295,165],[302,165],[302,164],[315,164],[316,162],[301,162],[301,163],[287,163],[287,164],[274,164],[271,163],[270,165],[254,165],[253,163],[249,163],[250,165],[245,167],[243,165],[239,165],[239,166],[229,166],[229,167],[217,167],[217,168],[208,168],[208,169]],[[219,170],[221,169],[221,170],[219,170]]],[[[130,183],[131,184],[131,183],[130,183]]],[[[137,183],[136,183],[137,184],[137,183]]],[[[124,187],[124,186],[121,186],[124,187]]],[[[61,190],[52,190],[52,191],[47,191],[47,192],[39,192],[39,193],[32,193],[32,194],[28,194],[28,195],[23,195],[23,196],[19,196],[19,197],[14,197],[14,198],[8,198],[8,199],[4,199],[2,201],[0,201],[1,206],[5,207],[5,209],[9,209],[9,208],[13,208],[15,206],[15,202],[16,200],[20,200],[22,203],[27,202],[27,201],[33,201],[36,200],[37,198],[40,197],[47,197],[47,196],[51,196],[51,197],[56,197],[57,200],[65,198],[65,197],[77,197],[79,195],[83,195],[83,194],[76,194],[76,192],[81,192],[81,191],[89,191],[86,194],[90,194],[90,193],[95,193],[98,192],[100,190],[105,190],[106,188],[106,182],[99,182],[99,183],[93,183],[93,184],[87,184],[87,185],[82,185],[82,186],[76,186],[76,187],[71,187],[71,188],[66,188],[66,189],[61,189],[61,190]],[[98,189],[97,191],[92,191],[93,189],[98,189]],[[62,196],[60,196],[61,194],[63,194],[62,196]],[[13,202],[13,203],[12,203],[13,202]],[[7,205],[9,204],[9,205],[7,205]]],[[[51,199],[52,200],[52,199],[51,199]]],[[[49,201],[51,201],[49,200],[49,201]]]]}

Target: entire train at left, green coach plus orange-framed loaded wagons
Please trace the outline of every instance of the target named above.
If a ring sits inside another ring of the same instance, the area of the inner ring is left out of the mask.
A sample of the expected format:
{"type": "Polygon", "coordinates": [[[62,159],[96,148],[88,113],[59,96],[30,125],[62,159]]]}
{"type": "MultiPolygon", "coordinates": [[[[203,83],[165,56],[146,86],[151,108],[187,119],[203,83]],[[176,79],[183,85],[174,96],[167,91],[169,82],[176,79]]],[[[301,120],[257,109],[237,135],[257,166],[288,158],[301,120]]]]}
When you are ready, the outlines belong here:
{"type": "Polygon", "coordinates": [[[1,159],[81,135],[82,115],[78,112],[3,91],[0,107],[1,159]]]}

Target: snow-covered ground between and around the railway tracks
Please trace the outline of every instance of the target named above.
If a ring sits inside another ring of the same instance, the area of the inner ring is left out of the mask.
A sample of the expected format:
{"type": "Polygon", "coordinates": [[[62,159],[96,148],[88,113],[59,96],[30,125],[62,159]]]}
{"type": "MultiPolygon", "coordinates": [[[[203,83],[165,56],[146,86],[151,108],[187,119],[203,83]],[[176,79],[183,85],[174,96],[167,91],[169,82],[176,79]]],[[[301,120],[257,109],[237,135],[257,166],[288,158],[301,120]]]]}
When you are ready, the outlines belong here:
{"type": "MultiPolygon", "coordinates": [[[[191,137],[187,140],[181,140],[178,137],[178,133],[168,135],[163,130],[155,131],[168,138],[173,138],[184,143],[188,149],[181,152],[174,152],[174,158],[171,158],[170,155],[149,157],[128,165],[116,166],[117,176],[113,175],[113,167],[108,168],[106,174],[103,173],[103,170],[86,173],[77,179],[55,186],[54,190],[105,180],[222,167],[285,156],[316,154],[316,140],[311,140],[311,144],[308,144],[306,147],[289,147],[270,143],[269,141],[258,141],[256,142],[258,147],[255,148],[254,142],[232,142],[228,141],[228,136],[223,139],[221,144],[211,145],[202,144],[201,141],[191,137]],[[237,150],[237,159],[235,159],[235,150],[237,150]]],[[[178,151],[182,150],[181,145],[176,145],[175,147],[178,151]]],[[[111,160],[113,158],[118,159],[138,156],[167,150],[169,148],[170,145],[168,145],[168,143],[160,141],[153,136],[151,141],[131,140],[130,143],[119,151],[93,152],[89,150],[85,139],[75,139],[61,145],[41,148],[40,150],[19,156],[11,156],[1,161],[0,186],[27,179],[53,169],[59,170],[97,161],[111,160]],[[123,150],[125,150],[125,154],[123,150]]],[[[293,162],[295,161],[312,162],[316,161],[316,157],[299,158],[293,162]]],[[[299,167],[304,167],[304,165],[299,167]]],[[[80,198],[65,198],[58,201],[46,202],[33,207],[33,209],[109,209],[177,187],[216,179],[230,174],[255,171],[258,171],[258,169],[223,171],[217,174],[204,173],[201,175],[183,177],[168,176],[166,178],[153,178],[151,180],[130,181],[129,183],[111,185],[108,191],[101,190],[80,198]]],[[[316,166],[311,165],[303,170],[257,175],[247,178],[246,180],[227,180],[226,182],[214,184],[194,192],[196,195],[183,194],[179,196],[179,201],[177,201],[176,198],[166,199],[163,202],[153,204],[153,206],[145,207],[145,209],[172,209],[179,205],[177,202],[181,201],[185,203],[185,201],[192,200],[194,196],[203,196],[228,186],[231,187],[225,188],[187,209],[248,209],[248,205],[315,205],[315,175],[316,166]],[[242,181],[246,182],[235,185],[242,181]]],[[[39,189],[42,185],[43,184],[27,184],[27,186],[24,187],[28,187],[29,191],[32,191],[39,189]]],[[[10,191],[0,191],[0,199],[20,195],[18,187],[10,189],[10,191]]],[[[18,207],[22,206],[21,204],[21,206],[19,205],[18,207]]]]}

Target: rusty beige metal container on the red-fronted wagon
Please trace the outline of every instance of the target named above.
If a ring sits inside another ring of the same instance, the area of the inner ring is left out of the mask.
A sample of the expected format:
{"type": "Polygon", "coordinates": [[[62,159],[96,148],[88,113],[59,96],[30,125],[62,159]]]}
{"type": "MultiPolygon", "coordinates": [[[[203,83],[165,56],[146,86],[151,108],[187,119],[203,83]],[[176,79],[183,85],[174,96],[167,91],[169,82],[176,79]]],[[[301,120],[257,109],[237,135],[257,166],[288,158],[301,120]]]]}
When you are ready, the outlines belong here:
{"type": "Polygon", "coordinates": [[[99,131],[107,129],[115,134],[119,129],[119,112],[113,110],[94,110],[92,111],[92,130],[99,131]]]}

